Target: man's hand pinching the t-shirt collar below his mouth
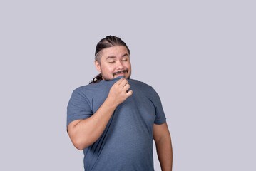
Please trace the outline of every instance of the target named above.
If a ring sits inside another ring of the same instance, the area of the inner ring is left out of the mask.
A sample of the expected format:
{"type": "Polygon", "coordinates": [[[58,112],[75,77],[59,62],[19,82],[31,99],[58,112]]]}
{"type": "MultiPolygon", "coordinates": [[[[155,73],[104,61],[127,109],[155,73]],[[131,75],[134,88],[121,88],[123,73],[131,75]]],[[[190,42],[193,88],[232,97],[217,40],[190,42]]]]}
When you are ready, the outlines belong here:
{"type": "Polygon", "coordinates": [[[129,90],[130,85],[126,78],[121,78],[120,80],[116,81],[114,85],[111,87],[108,93],[108,100],[111,100],[113,105],[118,106],[119,104],[123,103],[126,98],[130,97],[133,94],[133,90],[129,90]]]}

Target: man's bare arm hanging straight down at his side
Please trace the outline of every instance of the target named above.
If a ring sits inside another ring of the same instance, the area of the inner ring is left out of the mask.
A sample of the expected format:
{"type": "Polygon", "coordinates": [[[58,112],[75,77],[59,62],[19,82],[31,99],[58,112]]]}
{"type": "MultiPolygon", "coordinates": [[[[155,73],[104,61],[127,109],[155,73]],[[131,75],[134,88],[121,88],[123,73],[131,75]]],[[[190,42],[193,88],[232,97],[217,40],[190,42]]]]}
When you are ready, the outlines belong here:
{"type": "Polygon", "coordinates": [[[153,136],[162,171],[171,171],[173,168],[173,148],[167,123],[154,124],[153,136]]]}

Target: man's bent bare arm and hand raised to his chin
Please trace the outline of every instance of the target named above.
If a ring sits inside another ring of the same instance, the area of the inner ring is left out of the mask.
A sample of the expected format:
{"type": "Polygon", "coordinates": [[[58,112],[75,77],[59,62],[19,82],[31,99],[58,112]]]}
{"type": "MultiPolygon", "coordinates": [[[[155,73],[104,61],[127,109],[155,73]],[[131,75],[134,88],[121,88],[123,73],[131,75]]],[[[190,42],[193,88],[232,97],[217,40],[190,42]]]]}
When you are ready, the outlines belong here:
{"type": "Polygon", "coordinates": [[[74,120],[68,125],[68,135],[78,150],[83,150],[98,140],[117,106],[132,95],[129,88],[128,81],[121,78],[111,87],[108,97],[96,113],[90,118],[74,120]]]}

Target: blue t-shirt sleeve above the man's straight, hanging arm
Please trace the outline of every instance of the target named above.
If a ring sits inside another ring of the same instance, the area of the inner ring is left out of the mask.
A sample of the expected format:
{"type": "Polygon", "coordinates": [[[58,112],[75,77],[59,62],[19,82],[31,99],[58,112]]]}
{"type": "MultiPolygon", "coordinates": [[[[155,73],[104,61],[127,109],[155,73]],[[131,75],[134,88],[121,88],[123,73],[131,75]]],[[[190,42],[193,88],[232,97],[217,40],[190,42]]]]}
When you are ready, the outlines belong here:
{"type": "Polygon", "coordinates": [[[165,112],[161,103],[160,97],[155,90],[153,90],[153,103],[155,105],[155,124],[163,124],[166,122],[165,112]]]}

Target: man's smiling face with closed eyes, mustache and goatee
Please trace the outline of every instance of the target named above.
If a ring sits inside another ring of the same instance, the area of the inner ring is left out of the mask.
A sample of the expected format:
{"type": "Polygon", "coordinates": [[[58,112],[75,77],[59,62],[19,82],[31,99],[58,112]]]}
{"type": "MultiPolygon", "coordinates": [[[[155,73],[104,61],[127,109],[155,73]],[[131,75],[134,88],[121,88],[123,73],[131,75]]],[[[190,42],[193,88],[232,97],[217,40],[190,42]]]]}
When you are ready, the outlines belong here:
{"type": "Polygon", "coordinates": [[[130,56],[126,46],[104,48],[101,51],[100,60],[100,62],[95,61],[95,66],[101,73],[103,80],[111,80],[118,76],[130,78],[130,56]]]}

